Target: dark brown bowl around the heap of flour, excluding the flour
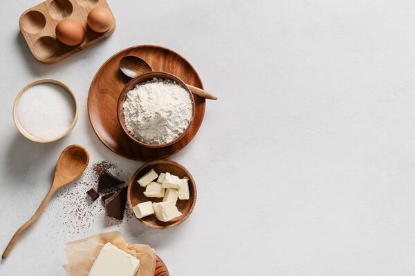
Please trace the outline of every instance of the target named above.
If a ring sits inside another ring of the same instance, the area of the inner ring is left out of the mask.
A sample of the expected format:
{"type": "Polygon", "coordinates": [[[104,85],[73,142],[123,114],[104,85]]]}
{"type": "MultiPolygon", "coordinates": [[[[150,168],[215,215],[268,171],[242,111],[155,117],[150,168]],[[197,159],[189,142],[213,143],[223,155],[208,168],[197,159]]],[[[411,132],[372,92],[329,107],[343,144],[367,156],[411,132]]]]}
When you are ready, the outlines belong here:
{"type": "Polygon", "coordinates": [[[129,83],[127,83],[124,86],[124,89],[122,89],[121,93],[120,93],[120,97],[118,97],[118,103],[117,103],[117,117],[118,117],[118,122],[120,123],[120,126],[122,128],[122,130],[124,131],[125,135],[127,135],[127,137],[129,137],[129,139],[131,139],[132,141],[134,141],[136,144],[139,144],[141,146],[145,146],[147,148],[163,148],[163,147],[167,147],[170,146],[174,143],[176,143],[178,140],[182,139],[183,136],[186,135],[187,131],[190,129],[190,127],[192,126],[192,122],[194,119],[194,115],[195,115],[195,111],[196,110],[196,106],[194,103],[194,97],[192,92],[190,92],[189,88],[187,88],[187,85],[178,77],[176,77],[175,75],[172,75],[170,73],[167,72],[148,72],[142,75],[139,75],[133,79],[131,79],[131,81],[129,81],[129,83]],[[125,100],[127,99],[127,93],[132,90],[138,83],[142,83],[145,81],[149,81],[150,79],[153,78],[158,78],[158,79],[170,79],[172,81],[176,81],[178,84],[180,84],[183,88],[185,88],[185,90],[187,91],[187,93],[189,93],[190,95],[190,100],[192,101],[192,117],[189,121],[189,125],[187,126],[187,128],[185,129],[185,131],[183,131],[183,133],[181,135],[179,135],[178,137],[176,137],[175,139],[173,139],[172,141],[169,141],[168,143],[165,144],[146,144],[138,139],[136,139],[136,137],[133,137],[133,135],[131,135],[131,133],[129,132],[127,125],[125,124],[125,120],[124,120],[124,108],[122,107],[124,105],[125,100]]]}

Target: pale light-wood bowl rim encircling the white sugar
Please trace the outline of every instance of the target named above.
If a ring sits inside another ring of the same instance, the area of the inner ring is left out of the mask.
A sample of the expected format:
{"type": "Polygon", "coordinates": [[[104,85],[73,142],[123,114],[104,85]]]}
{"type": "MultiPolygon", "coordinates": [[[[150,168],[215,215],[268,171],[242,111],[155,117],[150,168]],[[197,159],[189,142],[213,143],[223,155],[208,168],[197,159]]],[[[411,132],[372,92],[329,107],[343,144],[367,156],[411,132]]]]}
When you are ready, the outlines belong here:
{"type": "Polygon", "coordinates": [[[66,86],[66,84],[63,83],[62,81],[58,81],[57,79],[38,79],[37,81],[33,81],[32,83],[29,83],[22,90],[20,90],[19,94],[17,95],[17,97],[15,99],[15,104],[13,105],[13,121],[15,121],[15,125],[17,127],[17,130],[19,130],[21,135],[23,135],[27,139],[35,141],[37,143],[50,143],[50,142],[53,142],[53,141],[57,141],[57,140],[61,139],[62,137],[65,137],[75,126],[76,121],[77,121],[77,116],[78,116],[78,107],[77,107],[77,100],[76,100],[75,94],[73,93],[71,88],[66,86]],[[21,96],[24,95],[24,92],[26,92],[29,88],[32,88],[33,86],[36,86],[39,83],[54,83],[58,86],[61,86],[68,92],[68,95],[70,95],[70,97],[73,99],[73,108],[75,109],[75,112],[73,114],[73,121],[72,121],[71,125],[68,126],[66,131],[64,131],[60,135],[57,135],[57,137],[53,137],[53,139],[40,139],[38,137],[35,137],[35,135],[30,134],[28,131],[26,131],[26,129],[23,126],[21,126],[21,123],[19,121],[19,117],[18,117],[18,114],[17,114],[17,106],[19,106],[19,101],[21,99],[21,96]]]}

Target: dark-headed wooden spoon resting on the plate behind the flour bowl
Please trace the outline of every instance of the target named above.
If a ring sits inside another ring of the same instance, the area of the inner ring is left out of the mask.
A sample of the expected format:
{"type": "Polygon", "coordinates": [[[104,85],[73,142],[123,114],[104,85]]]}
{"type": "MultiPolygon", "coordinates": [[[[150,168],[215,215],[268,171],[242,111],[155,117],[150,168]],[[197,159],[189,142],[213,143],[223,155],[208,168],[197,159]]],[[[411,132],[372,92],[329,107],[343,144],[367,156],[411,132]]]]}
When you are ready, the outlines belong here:
{"type": "MultiPolygon", "coordinates": [[[[153,71],[151,66],[149,66],[149,63],[145,62],[145,60],[137,56],[122,57],[122,59],[120,60],[120,70],[127,77],[131,77],[131,79],[137,77],[138,75],[142,75],[144,73],[153,71]]],[[[206,92],[205,90],[202,90],[194,86],[190,86],[189,84],[186,85],[194,95],[198,95],[205,99],[218,99],[217,97],[206,92]]]]}

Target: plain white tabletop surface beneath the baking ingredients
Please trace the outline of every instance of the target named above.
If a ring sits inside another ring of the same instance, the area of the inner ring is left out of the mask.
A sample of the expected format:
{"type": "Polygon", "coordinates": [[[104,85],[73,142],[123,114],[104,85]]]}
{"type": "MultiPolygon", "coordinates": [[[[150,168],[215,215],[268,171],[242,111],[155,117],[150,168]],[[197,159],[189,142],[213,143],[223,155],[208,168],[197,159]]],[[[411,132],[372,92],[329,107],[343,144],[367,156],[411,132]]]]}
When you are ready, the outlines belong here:
{"type": "Polygon", "coordinates": [[[42,201],[65,146],[82,144],[91,164],[110,160],[124,177],[142,165],[105,148],[87,117],[89,85],[111,55],[175,50],[219,100],[170,157],[196,179],[185,223],[152,230],[130,219],[73,235],[54,197],[0,275],[65,275],[65,243],[109,230],[153,246],[174,276],[414,275],[414,1],[109,0],[112,37],[54,65],[36,61],[19,32],[38,1],[1,2],[1,250],[42,201]],[[47,145],[12,121],[19,90],[44,77],[80,103],[70,135],[47,145]]]}

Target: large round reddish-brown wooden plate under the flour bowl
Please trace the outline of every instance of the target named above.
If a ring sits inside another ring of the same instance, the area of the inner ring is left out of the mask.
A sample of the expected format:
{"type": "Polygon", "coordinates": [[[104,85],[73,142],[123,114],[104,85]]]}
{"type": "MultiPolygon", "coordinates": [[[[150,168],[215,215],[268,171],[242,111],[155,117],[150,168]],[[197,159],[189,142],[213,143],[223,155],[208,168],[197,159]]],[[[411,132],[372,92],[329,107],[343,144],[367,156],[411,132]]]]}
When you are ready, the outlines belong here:
{"type": "Polygon", "coordinates": [[[122,88],[130,80],[125,77],[118,63],[127,55],[141,57],[153,70],[169,72],[185,83],[203,89],[202,81],[192,65],[172,50],[151,45],[134,46],[113,55],[101,66],[93,78],[88,95],[88,115],[98,139],[117,155],[134,160],[163,159],[184,148],[199,130],[205,114],[205,99],[194,95],[196,113],[187,134],[177,143],[165,148],[145,148],[122,131],[117,119],[117,102],[122,88]]]}

